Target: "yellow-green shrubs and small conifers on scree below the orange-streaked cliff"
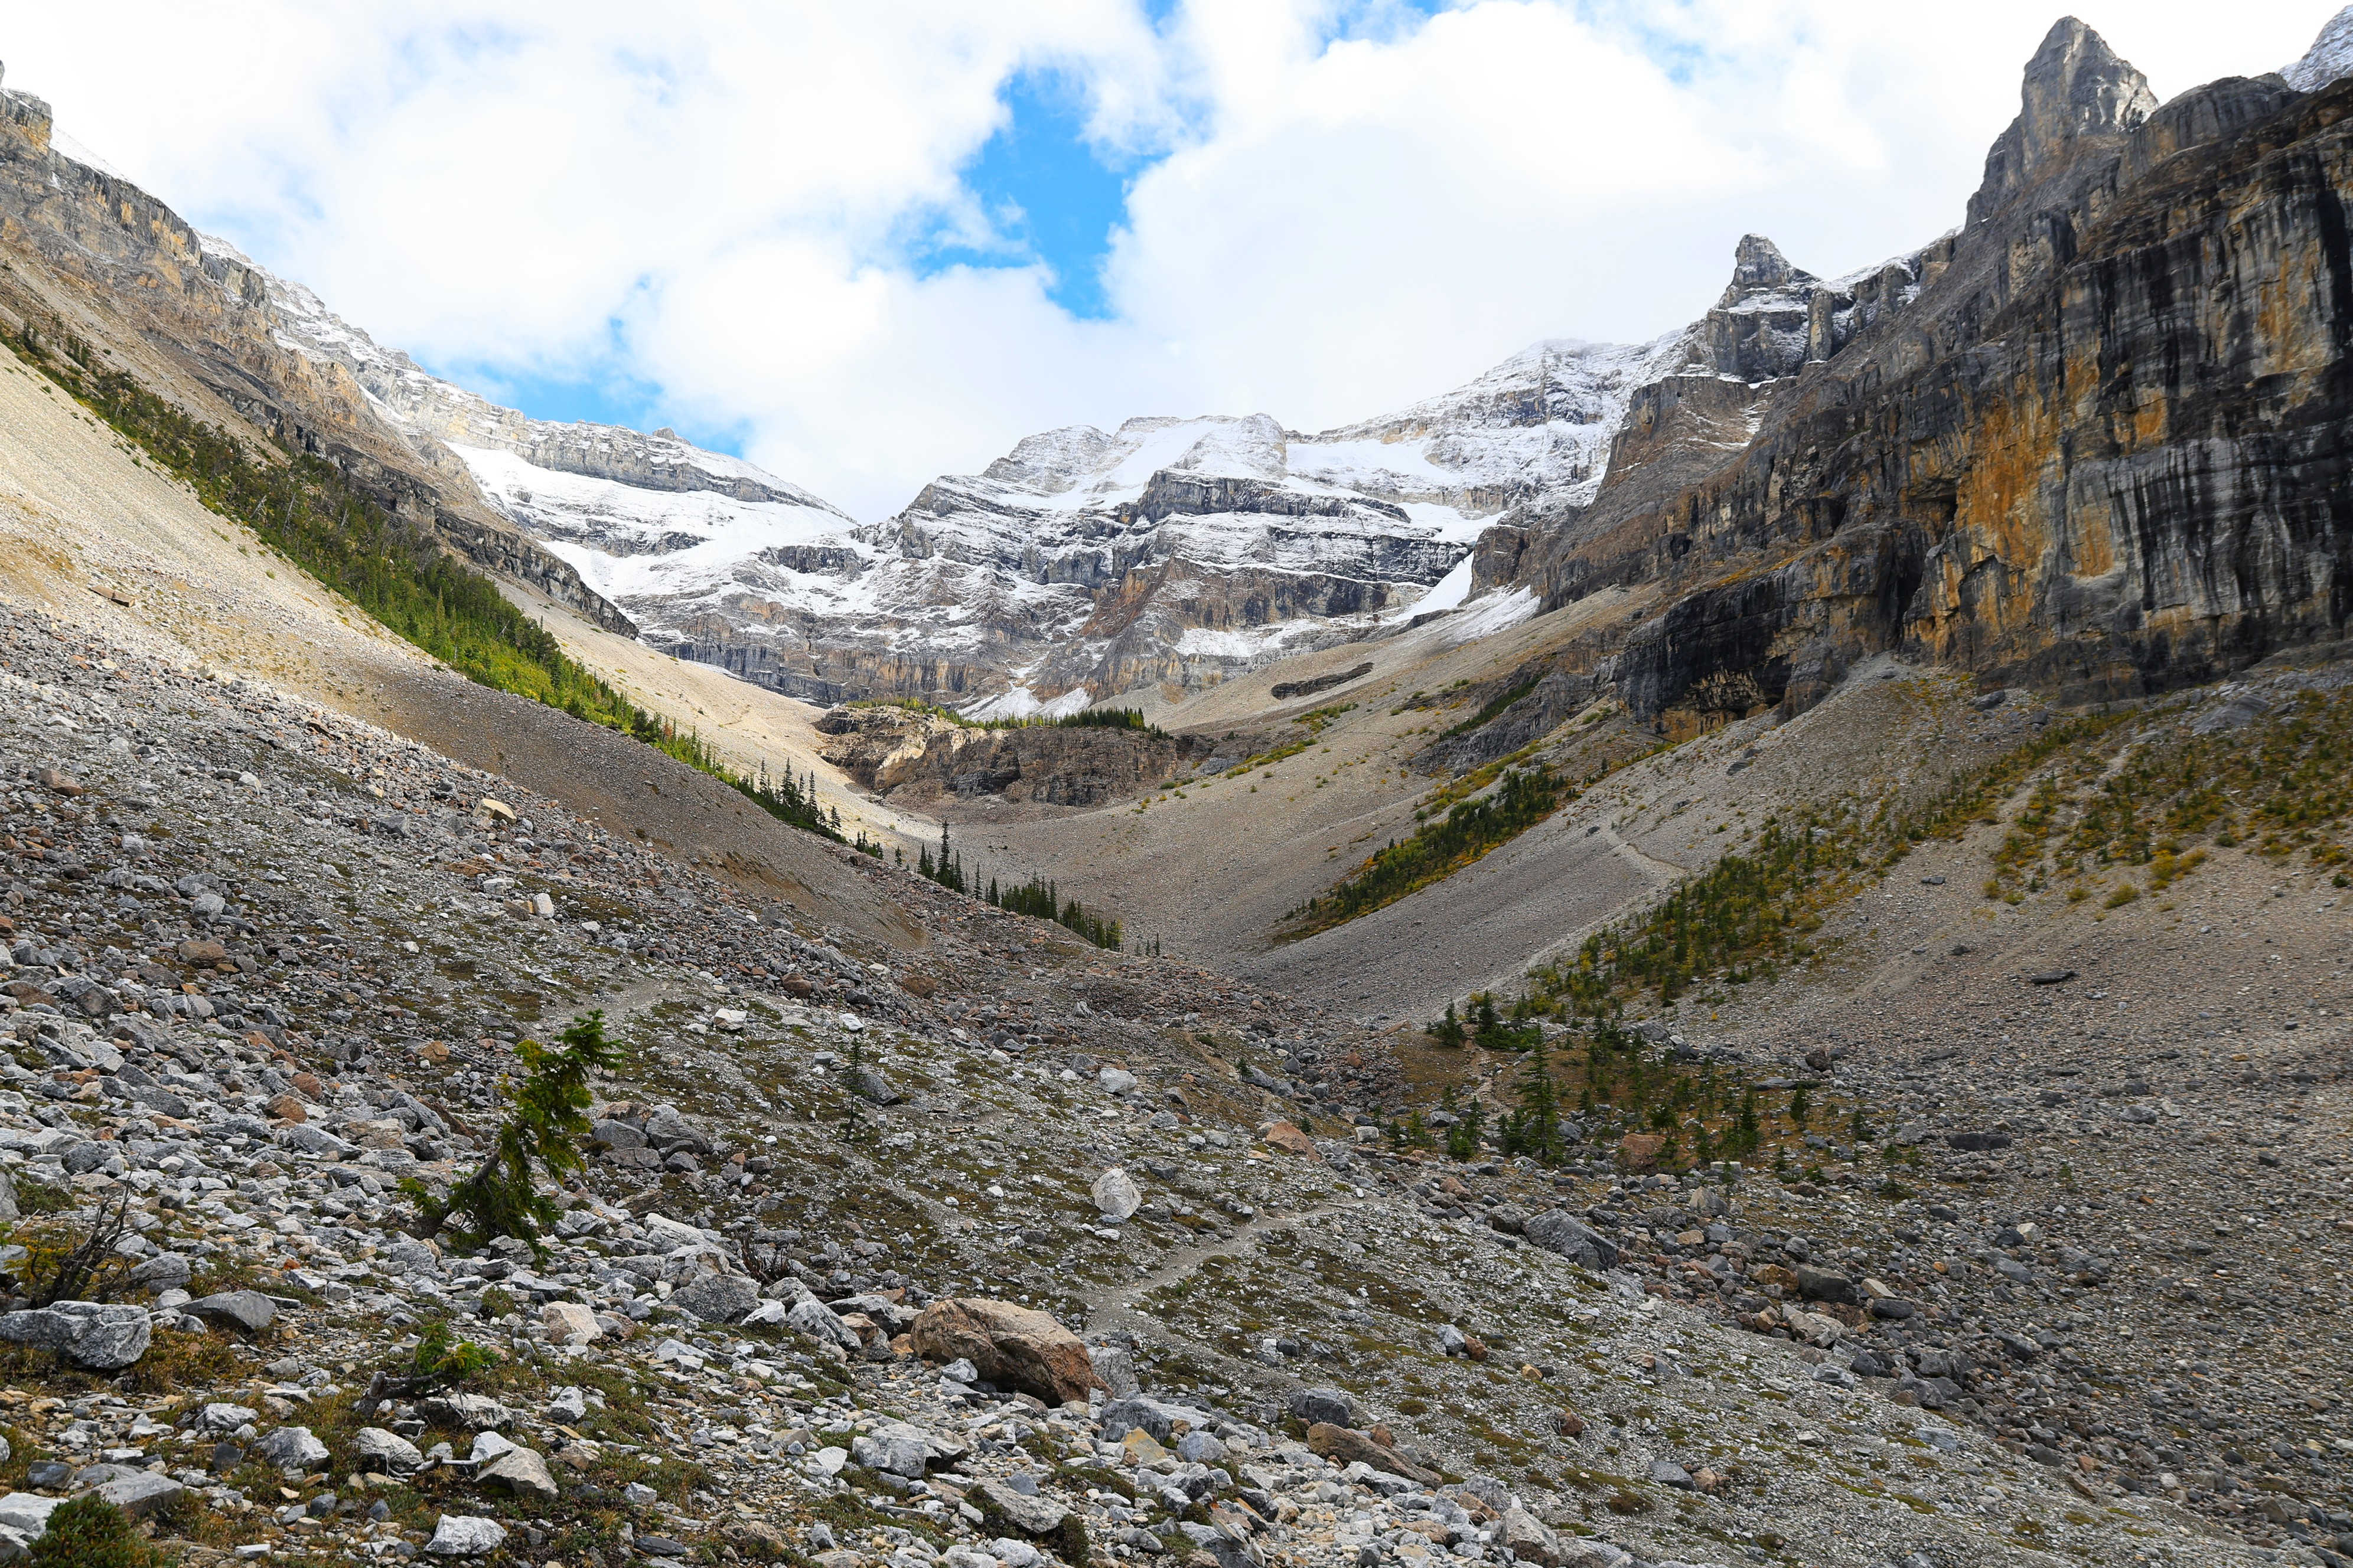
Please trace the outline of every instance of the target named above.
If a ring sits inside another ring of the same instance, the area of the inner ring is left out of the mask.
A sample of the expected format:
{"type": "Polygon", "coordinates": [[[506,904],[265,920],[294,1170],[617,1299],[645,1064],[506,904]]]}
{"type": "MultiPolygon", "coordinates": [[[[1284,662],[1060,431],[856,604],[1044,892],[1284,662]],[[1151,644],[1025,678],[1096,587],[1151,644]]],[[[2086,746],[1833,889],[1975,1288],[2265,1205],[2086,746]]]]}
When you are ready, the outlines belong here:
{"type": "MultiPolygon", "coordinates": [[[[2049,724],[1918,806],[1882,802],[1864,811],[1845,802],[1774,818],[1746,849],[1588,938],[1572,961],[1534,971],[1508,1009],[1482,994],[1471,997],[1468,1016],[1449,1006],[1428,1027],[1435,1044],[1527,1053],[1511,1110],[1487,1128],[1478,1112],[1449,1105],[1431,1126],[1421,1117],[1395,1124],[1391,1138],[1445,1135],[1478,1147],[1492,1133],[1508,1154],[1553,1161],[1572,1152],[1560,1117],[1574,1105],[1593,1140],[1642,1133],[1657,1143],[1624,1145],[1621,1154],[1664,1166],[1767,1150],[1786,1166],[1793,1152],[1805,1159],[1795,1140],[1809,1126],[1845,1131],[1861,1145],[1873,1135],[1866,1107],[1819,1103],[1809,1081],[1767,1105],[1739,1070],[1718,1074],[1711,1063],[1649,1048],[1621,1013],[1642,994],[1671,1004],[1697,985],[1739,985],[1802,964],[1831,905],[1875,884],[1925,839],[1998,823],[1998,804],[2019,790],[2028,790],[2026,802],[1991,851],[1988,898],[2019,903],[2066,886],[2068,900],[2082,903],[2115,877],[2101,900],[2113,910],[2144,891],[2162,893],[2219,849],[2271,860],[2301,853],[2337,886],[2353,886],[2344,844],[2353,820],[2353,689],[2306,691],[2242,729],[2207,736],[2179,724],[2177,710],[2092,712],[2049,724]],[[2118,748],[2129,722],[2146,729],[2118,748]],[[1569,1023],[1574,1034],[1546,1046],[1544,1020],[1569,1023]]],[[[1894,1166],[1911,1154],[1889,1147],[1885,1157],[1894,1182],[1894,1166]]]]}

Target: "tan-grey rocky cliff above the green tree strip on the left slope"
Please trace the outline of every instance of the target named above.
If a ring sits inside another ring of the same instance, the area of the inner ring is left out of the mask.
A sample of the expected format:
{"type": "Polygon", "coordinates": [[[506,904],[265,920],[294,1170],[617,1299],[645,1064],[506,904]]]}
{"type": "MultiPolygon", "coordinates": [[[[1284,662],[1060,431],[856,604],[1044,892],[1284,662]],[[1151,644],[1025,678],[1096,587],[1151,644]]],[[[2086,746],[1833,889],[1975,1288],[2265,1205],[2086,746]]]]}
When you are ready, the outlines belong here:
{"type": "Polygon", "coordinates": [[[367,496],[492,571],[628,630],[565,559],[515,529],[466,465],[414,442],[339,364],[299,353],[259,270],[129,181],[52,143],[49,108],[0,92],[0,324],[78,343],[200,418],[327,458],[367,496]]]}

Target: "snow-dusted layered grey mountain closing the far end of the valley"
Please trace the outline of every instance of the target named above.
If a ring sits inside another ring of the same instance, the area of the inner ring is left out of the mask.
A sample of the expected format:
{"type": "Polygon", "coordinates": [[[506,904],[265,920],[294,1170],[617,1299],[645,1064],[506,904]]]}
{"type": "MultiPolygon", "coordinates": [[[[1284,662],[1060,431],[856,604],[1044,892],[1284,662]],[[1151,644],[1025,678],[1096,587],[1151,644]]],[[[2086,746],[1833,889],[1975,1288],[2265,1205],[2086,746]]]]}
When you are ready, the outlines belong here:
{"type": "MultiPolygon", "coordinates": [[[[198,247],[259,294],[275,348],[355,383],[372,416],[464,473],[647,642],[788,696],[929,696],[976,717],[1195,691],[1459,604],[1487,520],[1591,496],[1633,390],[1692,353],[1689,334],[1546,341],[1320,435],[1266,414],[1071,425],[861,527],[671,430],[504,409],[224,240],[198,247]]],[[[1762,353],[1772,317],[1741,308],[1755,329],[1727,353],[1762,353]]]]}

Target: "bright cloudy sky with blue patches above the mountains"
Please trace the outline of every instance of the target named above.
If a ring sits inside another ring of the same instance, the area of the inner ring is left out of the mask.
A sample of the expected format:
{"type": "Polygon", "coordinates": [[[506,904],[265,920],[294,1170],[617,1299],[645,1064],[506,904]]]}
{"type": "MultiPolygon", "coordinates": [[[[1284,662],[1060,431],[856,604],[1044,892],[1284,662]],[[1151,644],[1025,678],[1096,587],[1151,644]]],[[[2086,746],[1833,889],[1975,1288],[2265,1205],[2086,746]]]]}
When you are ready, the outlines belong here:
{"type": "MultiPolygon", "coordinates": [[[[2172,96],[2334,7],[2082,0],[2172,96]]],[[[2052,0],[115,0],[59,129],[421,364],[859,520],[1021,435],[1294,430],[1960,221],[2052,0]]]]}

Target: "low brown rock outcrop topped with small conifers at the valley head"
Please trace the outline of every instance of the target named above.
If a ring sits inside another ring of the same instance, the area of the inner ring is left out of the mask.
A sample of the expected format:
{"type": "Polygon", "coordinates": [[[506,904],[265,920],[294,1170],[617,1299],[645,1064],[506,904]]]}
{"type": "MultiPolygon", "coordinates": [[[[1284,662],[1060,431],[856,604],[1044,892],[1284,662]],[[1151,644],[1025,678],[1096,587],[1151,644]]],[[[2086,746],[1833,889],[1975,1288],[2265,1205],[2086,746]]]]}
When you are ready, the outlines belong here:
{"type": "Polygon", "coordinates": [[[979,729],[899,705],[835,708],[816,722],[819,755],[901,804],[984,795],[1099,806],[1165,783],[1202,741],[1144,729],[1021,724],[979,729]]]}

